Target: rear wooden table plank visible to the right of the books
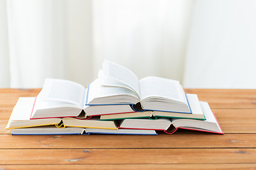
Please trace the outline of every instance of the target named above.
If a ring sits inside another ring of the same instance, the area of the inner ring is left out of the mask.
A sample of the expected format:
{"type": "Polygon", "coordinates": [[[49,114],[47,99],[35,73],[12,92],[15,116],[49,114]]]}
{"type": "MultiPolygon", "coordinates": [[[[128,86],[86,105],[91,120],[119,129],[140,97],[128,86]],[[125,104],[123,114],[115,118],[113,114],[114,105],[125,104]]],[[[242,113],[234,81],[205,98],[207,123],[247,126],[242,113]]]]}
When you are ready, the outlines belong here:
{"type": "Polygon", "coordinates": [[[185,89],[210,108],[256,108],[256,89],[185,89]]]}

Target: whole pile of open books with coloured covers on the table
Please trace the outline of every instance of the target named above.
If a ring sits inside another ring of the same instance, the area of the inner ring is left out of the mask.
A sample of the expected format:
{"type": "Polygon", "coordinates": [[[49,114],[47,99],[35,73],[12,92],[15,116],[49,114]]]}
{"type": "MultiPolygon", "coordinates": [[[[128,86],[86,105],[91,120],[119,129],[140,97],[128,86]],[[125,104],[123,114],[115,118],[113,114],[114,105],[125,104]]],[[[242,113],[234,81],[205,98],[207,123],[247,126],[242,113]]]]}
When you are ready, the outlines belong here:
{"type": "Polygon", "coordinates": [[[18,99],[6,126],[12,135],[157,135],[178,128],[223,134],[208,103],[186,94],[178,81],[139,80],[107,60],[87,88],[46,79],[38,96],[18,99]]]}

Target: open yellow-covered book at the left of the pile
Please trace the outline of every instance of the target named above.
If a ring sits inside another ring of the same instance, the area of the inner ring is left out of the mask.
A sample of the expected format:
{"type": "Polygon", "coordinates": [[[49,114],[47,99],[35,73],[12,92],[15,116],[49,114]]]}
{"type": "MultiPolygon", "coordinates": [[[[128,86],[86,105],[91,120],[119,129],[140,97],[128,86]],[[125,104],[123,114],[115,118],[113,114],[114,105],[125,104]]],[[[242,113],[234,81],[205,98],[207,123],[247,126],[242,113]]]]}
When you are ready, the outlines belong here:
{"type": "Polygon", "coordinates": [[[106,128],[117,129],[114,121],[100,121],[98,117],[88,120],[80,120],[76,118],[46,118],[31,120],[31,111],[33,108],[34,97],[21,97],[11,113],[11,117],[6,129],[28,128],[45,125],[55,125],[58,128],[78,127],[78,128],[106,128]]]}

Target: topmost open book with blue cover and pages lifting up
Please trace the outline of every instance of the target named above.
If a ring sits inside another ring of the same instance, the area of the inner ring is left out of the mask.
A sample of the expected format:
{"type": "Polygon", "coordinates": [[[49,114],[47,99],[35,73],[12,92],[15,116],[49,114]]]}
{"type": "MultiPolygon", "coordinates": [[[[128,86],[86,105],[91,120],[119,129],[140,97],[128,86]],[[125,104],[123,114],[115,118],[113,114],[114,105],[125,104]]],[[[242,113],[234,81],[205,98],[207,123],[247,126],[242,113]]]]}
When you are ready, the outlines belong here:
{"type": "Polygon", "coordinates": [[[137,111],[191,113],[186,94],[178,81],[160,77],[139,80],[129,69],[105,60],[98,79],[88,86],[86,104],[127,103],[134,104],[137,111]]]}

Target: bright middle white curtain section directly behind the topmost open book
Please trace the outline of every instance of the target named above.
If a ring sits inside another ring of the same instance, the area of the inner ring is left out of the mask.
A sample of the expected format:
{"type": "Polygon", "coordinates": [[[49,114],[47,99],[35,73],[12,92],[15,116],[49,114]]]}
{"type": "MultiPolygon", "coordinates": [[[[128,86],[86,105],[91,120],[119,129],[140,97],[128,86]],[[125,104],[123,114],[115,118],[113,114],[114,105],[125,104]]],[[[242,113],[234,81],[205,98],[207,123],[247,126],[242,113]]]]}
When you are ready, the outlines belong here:
{"type": "Polygon", "coordinates": [[[95,72],[104,58],[139,78],[181,80],[191,1],[93,1],[95,72]]]}

